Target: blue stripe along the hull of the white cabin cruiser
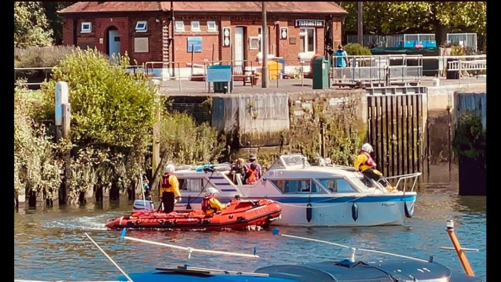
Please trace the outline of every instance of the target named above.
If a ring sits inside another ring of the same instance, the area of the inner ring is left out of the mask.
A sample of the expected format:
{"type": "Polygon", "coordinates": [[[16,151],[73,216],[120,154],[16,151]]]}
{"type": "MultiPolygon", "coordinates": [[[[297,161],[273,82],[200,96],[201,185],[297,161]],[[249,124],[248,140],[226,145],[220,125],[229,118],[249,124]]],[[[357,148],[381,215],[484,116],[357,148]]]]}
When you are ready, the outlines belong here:
{"type": "MultiPolygon", "coordinates": [[[[251,199],[258,199],[259,197],[249,197],[251,199]]],[[[416,195],[388,195],[388,196],[346,196],[346,197],[266,197],[269,200],[274,200],[281,203],[344,203],[344,202],[358,202],[358,203],[368,203],[368,202],[401,202],[401,201],[415,201],[416,195]]],[[[190,203],[201,203],[203,197],[190,197],[190,203]]],[[[221,202],[229,202],[234,198],[218,197],[221,202]]],[[[245,199],[245,198],[242,198],[245,199]]],[[[183,198],[180,204],[187,203],[188,200],[183,198]]]]}

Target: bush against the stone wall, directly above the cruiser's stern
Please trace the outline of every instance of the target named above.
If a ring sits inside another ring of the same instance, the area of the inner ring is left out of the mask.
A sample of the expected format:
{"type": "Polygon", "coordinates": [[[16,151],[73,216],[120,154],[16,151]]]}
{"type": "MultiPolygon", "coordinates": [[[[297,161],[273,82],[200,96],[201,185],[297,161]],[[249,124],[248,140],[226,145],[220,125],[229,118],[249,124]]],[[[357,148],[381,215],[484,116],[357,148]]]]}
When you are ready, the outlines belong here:
{"type": "Polygon", "coordinates": [[[185,113],[164,113],[160,125],[161,151],[175,164],[216,162],[224,149],[217,132],[207,123],[197,126],[185,113]]]}

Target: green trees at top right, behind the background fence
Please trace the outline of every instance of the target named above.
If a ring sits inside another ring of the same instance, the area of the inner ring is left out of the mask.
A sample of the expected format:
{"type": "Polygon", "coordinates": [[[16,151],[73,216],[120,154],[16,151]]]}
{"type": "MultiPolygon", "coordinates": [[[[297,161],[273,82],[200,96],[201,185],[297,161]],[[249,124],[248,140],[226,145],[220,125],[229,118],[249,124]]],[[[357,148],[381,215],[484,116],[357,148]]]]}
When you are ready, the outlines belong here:
{"type": "MultiPolygon", "coordinates": [[[[343,31],[357,31],[357,3],[338,2],[349,15],[343,31]]],[[[485,2],[364,2],[364,33],[435,33],[437,44],[451,32],[486,33],[485,2]]]]}

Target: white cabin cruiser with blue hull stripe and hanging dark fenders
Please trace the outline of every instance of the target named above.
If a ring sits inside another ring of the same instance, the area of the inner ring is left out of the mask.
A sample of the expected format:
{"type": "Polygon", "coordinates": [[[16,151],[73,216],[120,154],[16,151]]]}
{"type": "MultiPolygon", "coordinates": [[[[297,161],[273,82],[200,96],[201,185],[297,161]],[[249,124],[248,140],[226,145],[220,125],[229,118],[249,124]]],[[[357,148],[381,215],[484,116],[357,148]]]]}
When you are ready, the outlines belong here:
{"type": "Polygon", "coordinates": [[[413,190],[421,173],[387,178],[398,179],[395,187],[401,188],[389,193],[351,167],[320,161],[323,164],[310,165],[303,155],[282,155],[261,179],[250,185],[243,184],[238,174],[233,181],[228,163],[179,166],[175,174],[182,201],[176,204],[176,210],[199,209],[204,189],[214,187],[219,190],[217,198],[221,203],[235,196],[280,202],[282,217],[273,225],[401,225],[406,216],[412,216],[416,201],[413,190]],[[405,191],[407,180],[409,191],[405,191]]]}

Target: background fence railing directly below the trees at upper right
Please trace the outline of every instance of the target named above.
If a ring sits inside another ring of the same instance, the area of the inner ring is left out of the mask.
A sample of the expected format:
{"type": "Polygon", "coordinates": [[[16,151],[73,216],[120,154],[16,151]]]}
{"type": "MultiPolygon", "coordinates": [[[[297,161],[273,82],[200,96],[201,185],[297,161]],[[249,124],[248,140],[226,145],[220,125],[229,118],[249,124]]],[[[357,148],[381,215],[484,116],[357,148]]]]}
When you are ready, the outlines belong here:
{"type": "MultiPolygon", "coordinates": [[[[435,41],[434,34],[396,34],[396,35],[364,35],[364,46],[378,46],[382,48],[404,47],[406,42],[435,41]]],[[[357,43],[357,35],[347,35],[347,43],[357,43]]],[[[447,34],[447,42],[452,44],[462,44],[464,47],[477,50],[476,33],[451,33],[447,34]]]]}

